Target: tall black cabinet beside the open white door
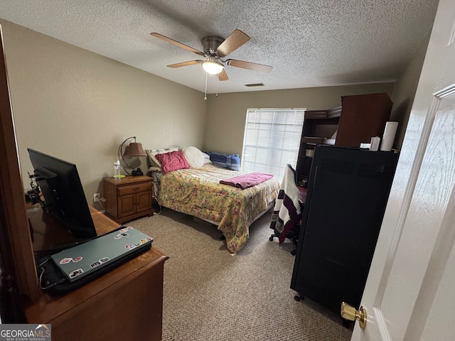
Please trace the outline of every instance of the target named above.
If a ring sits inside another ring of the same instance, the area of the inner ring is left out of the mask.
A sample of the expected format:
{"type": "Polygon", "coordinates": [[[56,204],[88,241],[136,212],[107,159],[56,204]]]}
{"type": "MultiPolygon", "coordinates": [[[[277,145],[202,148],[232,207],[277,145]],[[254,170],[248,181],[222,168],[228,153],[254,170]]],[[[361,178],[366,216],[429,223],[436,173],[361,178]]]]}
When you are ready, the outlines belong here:
{"type": "Polygon", "coordinates": [[[338,312],[358,308],[398,155],[316,146],[291,288],[338,312]]]}

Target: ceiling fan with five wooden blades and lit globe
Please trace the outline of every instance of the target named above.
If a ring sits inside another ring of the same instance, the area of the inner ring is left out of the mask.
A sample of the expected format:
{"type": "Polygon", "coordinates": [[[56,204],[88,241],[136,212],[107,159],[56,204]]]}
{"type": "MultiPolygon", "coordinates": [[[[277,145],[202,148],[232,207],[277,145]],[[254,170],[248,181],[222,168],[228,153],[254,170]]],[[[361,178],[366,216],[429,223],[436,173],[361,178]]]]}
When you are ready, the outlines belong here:
{"type": "Polygon", "coordinates": [[[250,37],[240,30],[235,30],[226,39],[220,38],[218,36],[206,36],[202,38],[203,52],[196,50],[196,48],[191,48],[188,45],[179,43],[176,40],[163,36],[160,33],[152,32],[150,34],[151,36],[176,45],[179,48],[184,48],[193,53],[196,53],[196,55],[202,55],[205,58],[205,60],[190,60],[188,62],[167,65],[168,67],[182,67],[200,64],[206,72],[210,73],[211,75],[217,75],[218,80],[229,79],[228,74],[225,70],[225,65],[242,67],[244,69],[259,72],[270,72],[272,70],[272,66],[269,65],[250,63],[243,60],[223,59],[233,51],[237,50],[237,48],[240,48],[240,46],[245,44],[248,40],[250,40],[250,37]]]}

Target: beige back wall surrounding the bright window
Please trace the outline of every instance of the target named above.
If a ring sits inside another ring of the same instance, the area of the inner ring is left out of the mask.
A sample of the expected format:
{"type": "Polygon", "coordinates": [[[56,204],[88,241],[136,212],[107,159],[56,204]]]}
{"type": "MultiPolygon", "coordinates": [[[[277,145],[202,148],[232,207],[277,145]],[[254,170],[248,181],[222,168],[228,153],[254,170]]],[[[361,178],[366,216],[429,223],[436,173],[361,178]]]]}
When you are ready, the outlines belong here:
{"type": "Polygon", "coordinates": [[[341,96],[387,92],[391,97],[393,87],[394,83],[381,83],[210,95],[204,147],[219,153],[242,153],[248,108],[331,109],[341,105],[341,96]]]}

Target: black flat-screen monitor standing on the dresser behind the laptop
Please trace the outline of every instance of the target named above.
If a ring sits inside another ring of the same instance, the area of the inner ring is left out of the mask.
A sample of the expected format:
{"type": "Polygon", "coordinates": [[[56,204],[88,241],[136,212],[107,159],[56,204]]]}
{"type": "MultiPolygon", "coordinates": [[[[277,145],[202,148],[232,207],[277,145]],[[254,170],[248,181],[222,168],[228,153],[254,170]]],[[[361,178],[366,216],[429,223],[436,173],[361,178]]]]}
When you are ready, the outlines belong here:
{"type": "Polygon", "coordinates": [[[43,208],[76,238],[96,237],[76,165],[27,148],[43,208]]]}

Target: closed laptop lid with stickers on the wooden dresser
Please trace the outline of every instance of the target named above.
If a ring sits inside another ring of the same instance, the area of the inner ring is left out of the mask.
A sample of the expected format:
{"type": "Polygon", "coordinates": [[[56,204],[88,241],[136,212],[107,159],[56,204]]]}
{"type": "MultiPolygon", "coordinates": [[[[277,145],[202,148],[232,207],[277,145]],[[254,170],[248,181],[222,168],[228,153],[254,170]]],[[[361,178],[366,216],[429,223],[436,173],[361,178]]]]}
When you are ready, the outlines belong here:
{"type": "Polygon", "coordinates": [[[53,254],[50,258],[69,281],[102,269],[139,249],[149,249],[153,238],[134,227],[122,227],[100,237],[53,254]]]}

